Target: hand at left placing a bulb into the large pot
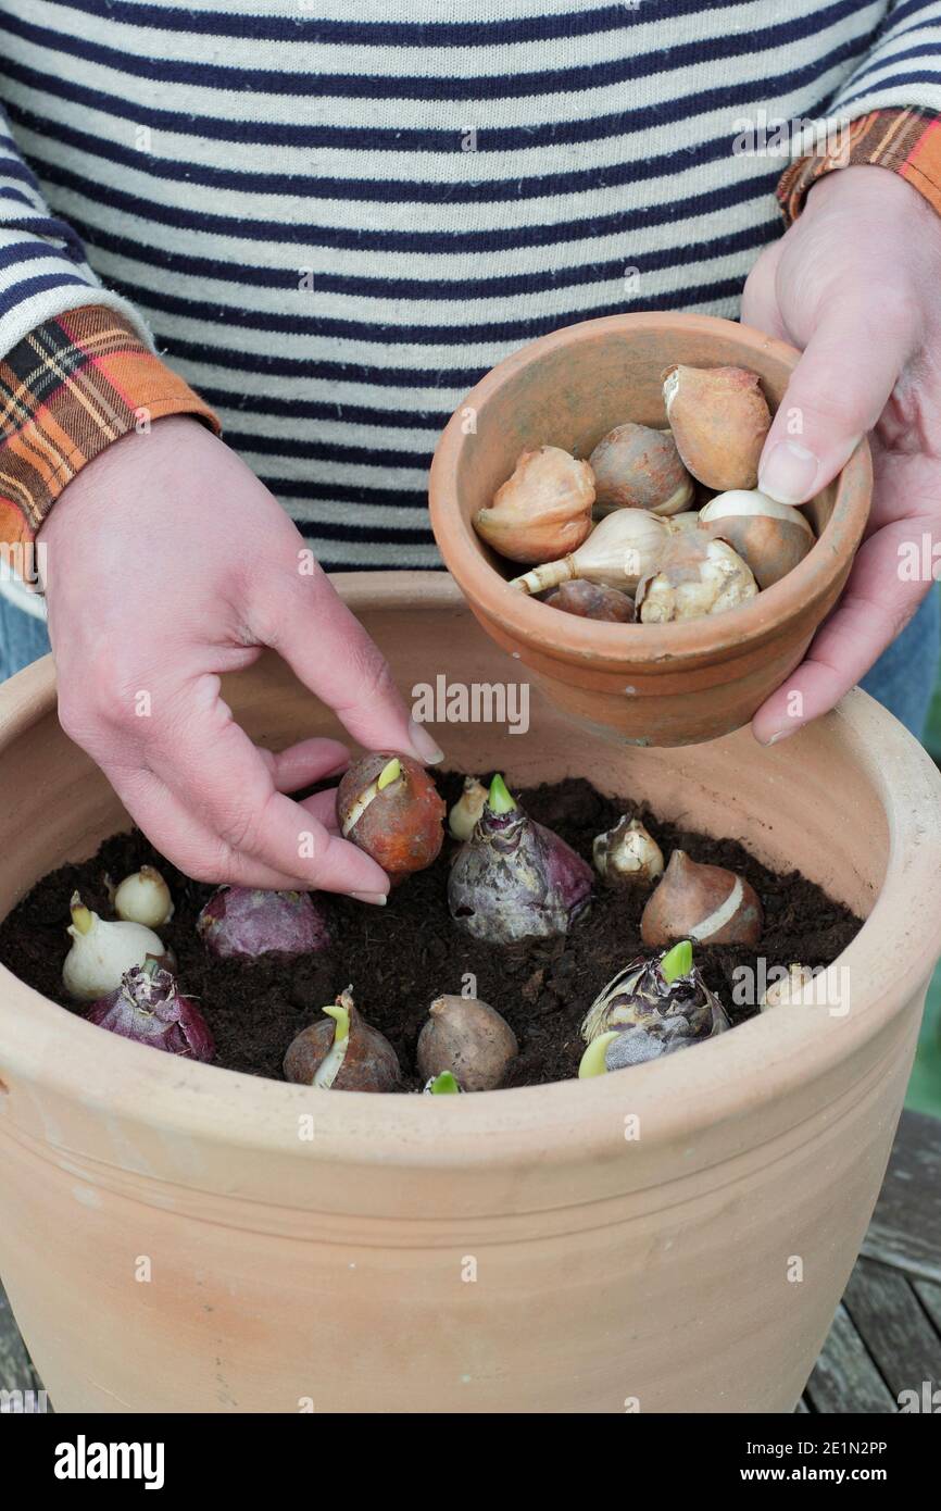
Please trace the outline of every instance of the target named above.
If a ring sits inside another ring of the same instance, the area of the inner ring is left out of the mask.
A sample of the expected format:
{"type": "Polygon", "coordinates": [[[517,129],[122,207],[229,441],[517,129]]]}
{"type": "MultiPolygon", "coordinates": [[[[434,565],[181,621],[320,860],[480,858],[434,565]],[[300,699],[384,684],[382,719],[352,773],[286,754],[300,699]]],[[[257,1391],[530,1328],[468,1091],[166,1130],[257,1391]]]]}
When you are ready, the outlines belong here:
{"type": "Polygon", "coordinates": [[[388,666],[255,474],[186,416],[125,435],[65,488],[39,535],[65,733],[156,848],[198,881],[343,891],[384,902],[388,876],[340,839],[346,746],[252,745],[219,697],[264,647],[367,749],[441,760],[388,666]]]}

